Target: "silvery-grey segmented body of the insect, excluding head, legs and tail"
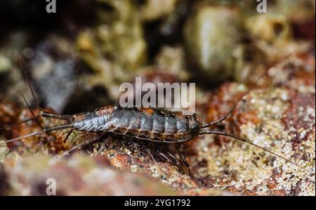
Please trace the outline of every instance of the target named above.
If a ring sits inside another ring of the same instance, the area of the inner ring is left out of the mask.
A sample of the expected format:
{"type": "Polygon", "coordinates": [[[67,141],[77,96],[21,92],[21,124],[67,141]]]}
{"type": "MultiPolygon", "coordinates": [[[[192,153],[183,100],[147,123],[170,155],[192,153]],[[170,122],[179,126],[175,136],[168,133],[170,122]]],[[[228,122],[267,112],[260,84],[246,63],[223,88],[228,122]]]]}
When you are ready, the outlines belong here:
{"type": "Polygon", "coordinates": [[[109,131],[148,140],[178,141],[192,137],[188,120],[181,112],[110,106],[75,115],[73,126],[81,131],[109,131]]]}

